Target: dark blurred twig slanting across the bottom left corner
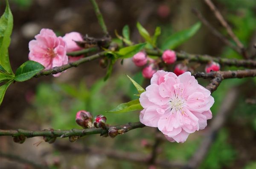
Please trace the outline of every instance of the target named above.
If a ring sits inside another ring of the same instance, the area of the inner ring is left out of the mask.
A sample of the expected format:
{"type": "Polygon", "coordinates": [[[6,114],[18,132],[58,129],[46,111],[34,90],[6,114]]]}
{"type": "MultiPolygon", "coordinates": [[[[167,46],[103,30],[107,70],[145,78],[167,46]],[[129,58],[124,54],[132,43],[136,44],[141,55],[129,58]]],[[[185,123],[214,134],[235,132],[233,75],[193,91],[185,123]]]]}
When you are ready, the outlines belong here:
{"type": "Polygon", "coordinates": [[[23,163],[23,164],[28,164],[28,165],[34,167],[35,169],[49,169],[47,166],[43,166],[38,163],[34,163],[33,161],[29,161],[25,158],[18,156],[18,155],[0,152],[0,157],[7,158],[12,161],[17,161],[17,162],[23,163]]]}

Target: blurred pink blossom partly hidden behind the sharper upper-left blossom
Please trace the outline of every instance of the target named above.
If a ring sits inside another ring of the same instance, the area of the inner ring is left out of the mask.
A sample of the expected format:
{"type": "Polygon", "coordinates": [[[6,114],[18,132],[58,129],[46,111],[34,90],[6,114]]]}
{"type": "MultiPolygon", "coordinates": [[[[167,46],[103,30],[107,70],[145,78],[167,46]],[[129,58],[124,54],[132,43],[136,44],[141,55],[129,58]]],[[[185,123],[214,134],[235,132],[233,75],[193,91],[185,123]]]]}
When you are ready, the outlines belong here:
{"type": "MultiPolygon", "coordinates": [[[[81,49],[83,49],[79,45],[77,45],[75,42],[75,41],[83,40],[81,34],[79,34],[78,32],[70,32],[68,34],[65,34],[65,36],[63,37],[63,40],[67,44],[67,52],[80,51],[81,49]]],[[[81,59],[82,57],[83,55],[76,56],[76,57],[68,56],[68,62],[75,62],[81,59]]]]}

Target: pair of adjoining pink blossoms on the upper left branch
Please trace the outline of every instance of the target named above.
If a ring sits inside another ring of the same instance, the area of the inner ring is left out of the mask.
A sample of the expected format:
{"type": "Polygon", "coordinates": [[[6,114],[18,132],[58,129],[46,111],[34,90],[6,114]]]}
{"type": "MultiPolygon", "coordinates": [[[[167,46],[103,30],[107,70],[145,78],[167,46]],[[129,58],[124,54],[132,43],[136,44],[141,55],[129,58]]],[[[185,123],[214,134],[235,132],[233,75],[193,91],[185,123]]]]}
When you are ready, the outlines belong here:
{"type": "MultiPolygon", "coordinates": [[[[35,39],[29,42],[29,60],[41,63],[45,70],[74,62],[82,56],[70,57],[67,52],[81,50],[75,42],[81,40],[83,39],[78,32],[57,37],[51,29],[43,28],[35,39]]],[[[57,73],[53,76],[59,75],[60,73],[57,73]]]]}

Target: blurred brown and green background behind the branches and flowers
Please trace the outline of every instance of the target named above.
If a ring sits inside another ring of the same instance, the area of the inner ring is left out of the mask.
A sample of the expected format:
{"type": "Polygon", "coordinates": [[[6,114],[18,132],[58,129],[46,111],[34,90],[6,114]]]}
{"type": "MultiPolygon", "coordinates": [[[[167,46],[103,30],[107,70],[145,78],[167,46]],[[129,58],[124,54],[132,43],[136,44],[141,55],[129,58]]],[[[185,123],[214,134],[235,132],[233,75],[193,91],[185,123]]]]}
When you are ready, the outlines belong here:
{"type": "MultiPolygon", "coordinates": [[[[0,3],[1,12],[3,11],[2,2],[3,0],[0,3]]],[[[248,47],[256,34],[256,1],[215,0],[213,2],[230,23],[236,36],[248,47]]],[[[10,4],[14,15],[10,60],[14,67],[27,60],[28,42],[38,34],[41,28],[52,28],[61,36],[70,31],[79,31],[96,37],[102,34],[92,6],[87,1],[10,0],[10,4]]],[[[157,44],[163,44],[165,37],[189,28],[198,22],[190,12],[191,6],[201,10],[212,25],[227,35],[226,30],[209,12],[209,8],[199,0],[134,0],[134,3],[125,0],[99,0],[99,6],[111,36],[115,37],[115,29],[121,32],[122,27],[128,24],[131,28],[131,39],[134,42],[142,41],[136,30],[137,21],[140,21],[150,34],[153,34],[156,26],[161,27],[157,44]]],[[[176,50],[242,59],[242,56],[224,46],[210,34],[204,25],[201,25],[194,37],[176,50]]],[[[221,70],[230,69],[238,68],[221,68],[221,70]]],[[[172,71],[172,66],[169,70],[172,71]]],[[[197,70],[203,71],[204,65],[200,65],[197,70]]],[[[12,85],[6,92],[6,98],[0,107],[1,128],[30,130],[79,128],[75,123],[75,115],[79,110],[87,110],[93,115],[103,114],[107,117],[109,124],[139,121],[139,112],[111,114],[105,111],[137,98],[134,96],[137,91],[125,74],[144,87],[148,85],[148,80],[143,79],[141,70],[135,68],[129,59],[124,61],[124,65],[116,62],[113,75],[106,82],[103,81],[105,71],[99,67],[98,61],[93,61],[79,68],[67,70],[60,78],[47,76],[12,85]]],[[[199,82],[203,86],[209,83],[204,79],[199,79],[199,82]]],[[[222,82],[218,90],[212,94],[215,99],[211,109],[213,118],[218,113],[219,107],[225,104],[224,98],[231,87],[236,87],[240,91],[237,104],[232,107],[225,126],[218,132],[200,169],[256,168],[256,78],[228,79],[222,82]],[[249,104],[248,100],[254,100],[254,104],[249,104]]],[[[158,159],[188,161],[197,150],[205,132],[207,129],[189,135],[184,144],[164,142],[160,146],[158,159]]],[[[154,133],[154,129],[145,127],[119,135],[114,139],[90,135],[80,138],[74,144],[148,155],[151,152],[150,148],[142,142],[146,141],[147,144],[152,145],[154,133]]],[[[42,141],[42,138],[31,138],[30,142],[26,141],[23,145],[13,144],[10,139],[0,138],[1,149],[22,155],[32,161],[48,163],[52,169],[96,169],[102,166],[106,169],[147,168],[130,161],[116,161],[86,152],[82,154],[64,152],[62,149],[55,149],[55,144],[45,142],[39,146],[32,146],[42,141]],[[22,146],[26,147],[26,151],[22,146]]],[[[57,139],[56,142],[70,144],[67,139],[57,139]]],[[[1,169],[15,165],[17,164],[12,161],[0,158],[1,169]]]]}

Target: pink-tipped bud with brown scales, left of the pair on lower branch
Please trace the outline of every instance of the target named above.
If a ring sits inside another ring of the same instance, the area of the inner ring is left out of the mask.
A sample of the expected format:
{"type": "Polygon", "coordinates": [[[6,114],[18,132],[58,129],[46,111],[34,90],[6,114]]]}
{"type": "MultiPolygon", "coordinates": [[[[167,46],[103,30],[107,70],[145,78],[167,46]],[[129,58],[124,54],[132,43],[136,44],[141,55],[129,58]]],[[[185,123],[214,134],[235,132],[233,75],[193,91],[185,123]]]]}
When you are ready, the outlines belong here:
{"type": "Polygon", "coordinates": [[[92,119],[93,116],[85,110],[76,113],[76,123],[83,128],[92,128],[92,119]]]}

